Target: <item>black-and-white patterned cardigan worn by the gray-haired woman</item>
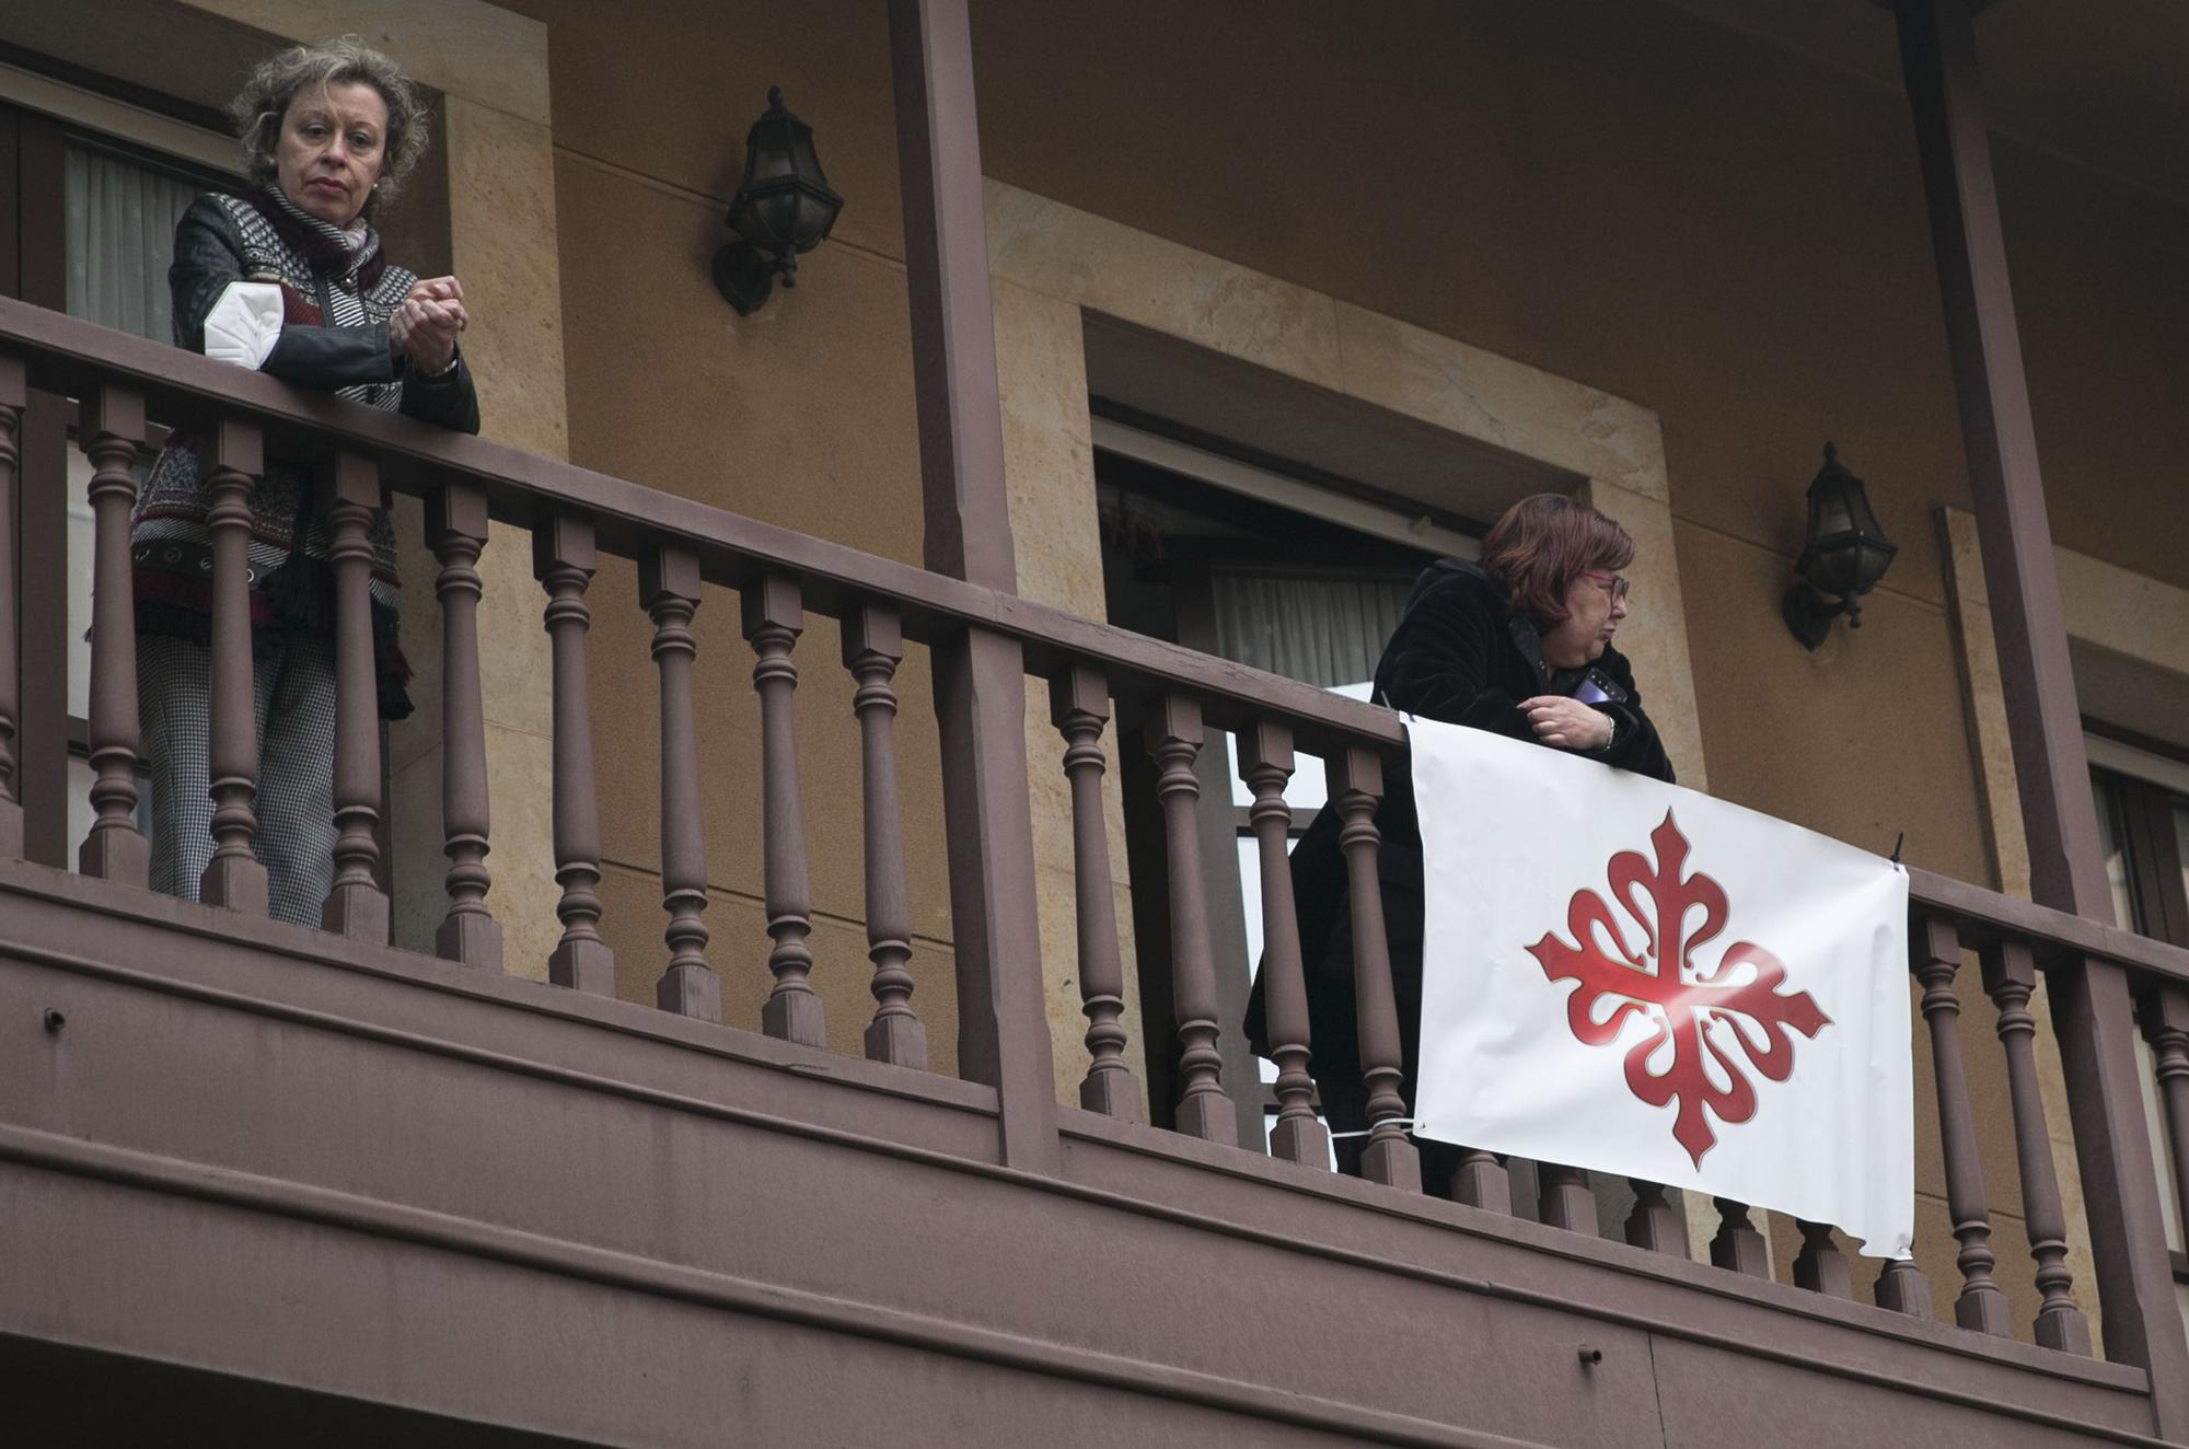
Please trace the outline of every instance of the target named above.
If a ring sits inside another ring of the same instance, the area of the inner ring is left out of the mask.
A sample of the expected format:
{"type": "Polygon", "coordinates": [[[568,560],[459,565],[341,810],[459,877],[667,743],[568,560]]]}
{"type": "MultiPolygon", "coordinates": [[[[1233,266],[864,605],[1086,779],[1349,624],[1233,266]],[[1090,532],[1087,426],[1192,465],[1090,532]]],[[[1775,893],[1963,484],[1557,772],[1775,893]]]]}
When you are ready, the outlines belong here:
{"type": "MultiPolygon", "coordinates": [[[[175,346],[206,350],[206,315],[234,282],[276,282],[282,328],[260,370],[302,387],[479,431],[471,368],[458,355],[440,376],[414,372],[387,344],[387,317],[418,280],[387,265],[372,228],[344,232],[276,190],[201,195],[175,225],[166,274],[175,346]]],[[[396,538],[385,497],[372,510],[372,624],[381,714],[403,718],[409,668],[396,650],[396,538]]],[[[138,630],[204,641],[212,615],[212,549],[197,447],[175,431],[138,492],[131,521],[138,630]]],[[[254,633],[333,633],[331,530],[311,471],[276,457],[252,490],[250,589],[254,633]]]]}

